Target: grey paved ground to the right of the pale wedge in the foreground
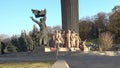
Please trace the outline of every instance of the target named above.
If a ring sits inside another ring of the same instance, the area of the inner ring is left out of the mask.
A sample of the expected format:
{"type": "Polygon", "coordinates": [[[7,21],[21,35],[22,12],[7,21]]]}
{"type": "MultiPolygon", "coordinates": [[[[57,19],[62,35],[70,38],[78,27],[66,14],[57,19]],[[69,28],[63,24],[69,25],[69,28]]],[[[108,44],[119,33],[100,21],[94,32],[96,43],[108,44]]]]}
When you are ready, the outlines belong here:
{"type": "Polygon", "coordinates": [[[70,68],[120,68],[120,56],[64,56],[59,57],[65,60],[70,68]]]}

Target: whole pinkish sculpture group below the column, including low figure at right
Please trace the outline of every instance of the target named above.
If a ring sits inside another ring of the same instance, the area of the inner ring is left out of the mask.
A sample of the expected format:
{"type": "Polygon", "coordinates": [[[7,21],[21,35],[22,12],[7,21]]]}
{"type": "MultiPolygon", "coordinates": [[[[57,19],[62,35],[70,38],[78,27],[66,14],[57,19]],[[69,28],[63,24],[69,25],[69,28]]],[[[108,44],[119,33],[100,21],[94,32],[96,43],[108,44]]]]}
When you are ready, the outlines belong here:
{"type": "Polygon", "coordinates": [[[68,49],[78,48],[83,51],[86,48],[86,41],[81,41],[79,34],[75,31],[58,31],[56,30],[53,34],[50,47],[65,47],[68,49]]]}

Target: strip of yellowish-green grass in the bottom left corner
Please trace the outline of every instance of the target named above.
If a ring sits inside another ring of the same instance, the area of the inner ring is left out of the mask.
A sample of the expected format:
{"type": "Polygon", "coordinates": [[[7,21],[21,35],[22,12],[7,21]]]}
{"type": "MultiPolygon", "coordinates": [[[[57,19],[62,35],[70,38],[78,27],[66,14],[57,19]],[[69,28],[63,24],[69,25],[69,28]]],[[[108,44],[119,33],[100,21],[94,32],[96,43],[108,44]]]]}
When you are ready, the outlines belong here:
{"type": "Polygon", "coordinates": [[[50,68],[55,61],[3,62],[0,68],[50,68]]]}

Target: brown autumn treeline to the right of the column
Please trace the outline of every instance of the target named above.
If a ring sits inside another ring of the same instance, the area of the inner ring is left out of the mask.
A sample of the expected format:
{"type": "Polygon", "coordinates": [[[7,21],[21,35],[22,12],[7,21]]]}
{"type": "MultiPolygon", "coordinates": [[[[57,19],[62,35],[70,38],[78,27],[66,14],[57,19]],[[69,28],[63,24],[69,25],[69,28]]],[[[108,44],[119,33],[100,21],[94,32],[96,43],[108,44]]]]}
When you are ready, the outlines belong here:
{"type": "Polygon", "coordinates": [[[114,43],[120,43],[120,10],[111,13],[100,12],[80,20],[81,39],[96,39],[103,32],[112,33],[114,43]]]}

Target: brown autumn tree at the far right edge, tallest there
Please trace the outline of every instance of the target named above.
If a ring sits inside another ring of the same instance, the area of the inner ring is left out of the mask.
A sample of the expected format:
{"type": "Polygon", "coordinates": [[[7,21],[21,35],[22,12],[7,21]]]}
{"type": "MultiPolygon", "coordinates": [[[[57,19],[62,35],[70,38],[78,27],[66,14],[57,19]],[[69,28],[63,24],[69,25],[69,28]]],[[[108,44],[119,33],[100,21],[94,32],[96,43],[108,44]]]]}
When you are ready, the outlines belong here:
{"type": "Polygon", "coordinates": [[[120,10],[113,11],[109,17],[108,30],[115,35],[115,42],[119,43],[120,40],[120,10]]]}

